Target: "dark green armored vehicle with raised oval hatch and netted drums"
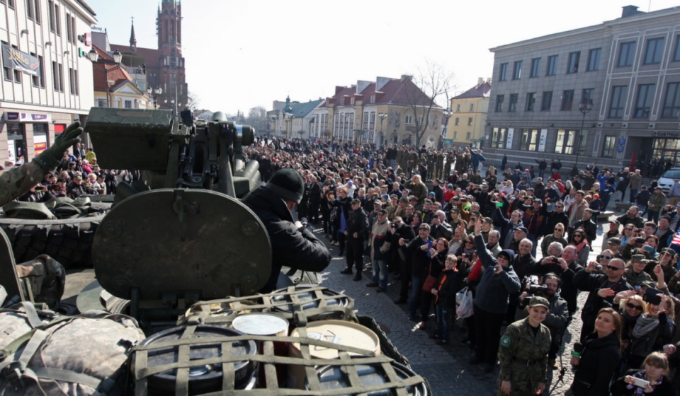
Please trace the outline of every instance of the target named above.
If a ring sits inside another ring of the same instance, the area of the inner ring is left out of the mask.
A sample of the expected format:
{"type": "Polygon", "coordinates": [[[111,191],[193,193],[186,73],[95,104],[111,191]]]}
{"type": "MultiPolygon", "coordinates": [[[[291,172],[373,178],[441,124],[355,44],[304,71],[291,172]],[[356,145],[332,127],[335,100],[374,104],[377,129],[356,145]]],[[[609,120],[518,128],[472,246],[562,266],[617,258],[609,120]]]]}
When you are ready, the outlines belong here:
{"type": "Polygon", "coordinates": [[[256,293],[272,253],[240,201],[259,183],[243,156],[251,127],[221,113],[198,122],[185,111],[180,122],[166,110],[95,107],[86,132],[103,168],[141,175],[118,185],[92,243],[96,282],[78,296],[81,311],[127,314],[144,330],[126,392],[429,395],[351,297],[304,276],[256,293]]]}

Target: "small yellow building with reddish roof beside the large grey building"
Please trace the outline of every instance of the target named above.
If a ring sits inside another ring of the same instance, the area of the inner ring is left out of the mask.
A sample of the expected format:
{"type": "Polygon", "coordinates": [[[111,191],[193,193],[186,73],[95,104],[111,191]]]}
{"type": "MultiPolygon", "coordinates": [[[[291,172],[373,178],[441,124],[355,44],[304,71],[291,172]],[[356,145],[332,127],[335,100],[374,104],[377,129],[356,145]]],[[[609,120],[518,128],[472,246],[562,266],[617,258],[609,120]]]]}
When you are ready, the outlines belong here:
{"type": "Polygon", "coordinates": [[[448,119],[446,141],[455,146],[479,147],[485,139],[491,79],[480,78],[477,85],[450,99],[453,114],[448,119]]]}

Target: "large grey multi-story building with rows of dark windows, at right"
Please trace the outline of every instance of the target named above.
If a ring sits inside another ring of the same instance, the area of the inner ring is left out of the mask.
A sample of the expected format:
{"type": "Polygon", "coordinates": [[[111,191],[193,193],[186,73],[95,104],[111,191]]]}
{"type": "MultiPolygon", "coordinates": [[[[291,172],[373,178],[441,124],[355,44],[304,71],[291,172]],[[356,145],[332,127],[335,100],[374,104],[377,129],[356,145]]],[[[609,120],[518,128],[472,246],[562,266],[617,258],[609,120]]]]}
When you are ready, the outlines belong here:
{"type": "Polygon", "coordinates": [[[492,48],[485,156],[680,162],[680,7],[492,48]]]}

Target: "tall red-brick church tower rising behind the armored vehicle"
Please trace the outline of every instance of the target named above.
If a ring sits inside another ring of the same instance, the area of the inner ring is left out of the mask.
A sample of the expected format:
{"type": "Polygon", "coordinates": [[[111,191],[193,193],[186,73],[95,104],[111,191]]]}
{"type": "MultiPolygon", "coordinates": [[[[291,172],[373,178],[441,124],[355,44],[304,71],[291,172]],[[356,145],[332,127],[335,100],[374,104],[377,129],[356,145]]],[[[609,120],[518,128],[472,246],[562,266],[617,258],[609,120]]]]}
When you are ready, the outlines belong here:
{"type": "MultiPolygon", "coordinates": [[[[158,86],[163,88],[161,108],[181,111],[187,104],[187,85],[182,57],[182,5],[162,0],[156,18],[158,35],[158,86]]],[[[132,43],[130,43],[132,45],[132,43]]]]}

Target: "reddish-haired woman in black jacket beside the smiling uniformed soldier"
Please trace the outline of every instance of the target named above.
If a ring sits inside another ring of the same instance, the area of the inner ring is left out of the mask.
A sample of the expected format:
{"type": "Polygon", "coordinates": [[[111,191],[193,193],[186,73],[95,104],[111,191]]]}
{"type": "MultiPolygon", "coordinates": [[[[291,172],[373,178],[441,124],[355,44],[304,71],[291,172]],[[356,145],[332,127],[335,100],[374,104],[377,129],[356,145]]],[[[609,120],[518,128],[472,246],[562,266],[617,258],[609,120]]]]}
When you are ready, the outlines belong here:
{"type": "Polygon", "coordinates": [[[581,357],[572,356],[577,366],[572,392],[574,396],[608,395],[614,371],[621,362],[621,315],[612,308],[597,313],[595,331],[583,342],[581,357]]]}

